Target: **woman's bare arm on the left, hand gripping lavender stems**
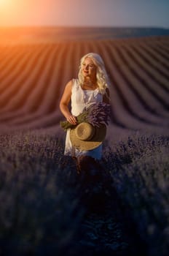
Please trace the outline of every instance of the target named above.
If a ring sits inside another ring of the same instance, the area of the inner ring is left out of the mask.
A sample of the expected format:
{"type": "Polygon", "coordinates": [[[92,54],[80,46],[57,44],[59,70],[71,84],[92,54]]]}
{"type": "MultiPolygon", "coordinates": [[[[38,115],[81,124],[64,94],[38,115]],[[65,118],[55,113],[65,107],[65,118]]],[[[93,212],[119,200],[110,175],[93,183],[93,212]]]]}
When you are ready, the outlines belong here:
{"type": "Polygon", "coordinates": [[[69,121],[69,123],[76,124],[76,117],[72,116],[70,110],[68,109],[68,104],[71,100],[71,88],[72,80],[66,84],[63,91],[63,95],[60,99],[60,111],[63,113],[63,116],[65,116],[66,120],[69,121]]]}

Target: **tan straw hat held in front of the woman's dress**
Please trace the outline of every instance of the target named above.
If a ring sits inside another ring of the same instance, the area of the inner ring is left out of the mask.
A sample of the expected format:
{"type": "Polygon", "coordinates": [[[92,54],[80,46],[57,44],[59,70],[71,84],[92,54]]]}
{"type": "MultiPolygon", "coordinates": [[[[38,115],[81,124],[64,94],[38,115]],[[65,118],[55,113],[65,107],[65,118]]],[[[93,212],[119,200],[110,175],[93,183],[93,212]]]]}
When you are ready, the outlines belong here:
{"type": "Polygon", "coordinates": [[[70,131],[71,143],[75,148],[91,150],[101,145],[106,137],[106,125],[93,127],[92,124],[82,122],[70,131]]]}

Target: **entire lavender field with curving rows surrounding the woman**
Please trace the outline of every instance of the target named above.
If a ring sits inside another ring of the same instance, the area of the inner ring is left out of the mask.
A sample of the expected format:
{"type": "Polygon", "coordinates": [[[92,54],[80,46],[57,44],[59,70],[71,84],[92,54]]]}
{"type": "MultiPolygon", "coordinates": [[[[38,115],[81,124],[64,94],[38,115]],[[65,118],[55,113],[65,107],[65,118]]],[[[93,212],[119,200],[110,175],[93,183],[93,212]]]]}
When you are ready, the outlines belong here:
{"type": "Polygon", "coordinates": [[[0,42],[0,254],[167,255],[169,37],[33,32],[0,42]],[[98,203],[63,156],[59,125],[88,52],[111,80],[98,203]]]}

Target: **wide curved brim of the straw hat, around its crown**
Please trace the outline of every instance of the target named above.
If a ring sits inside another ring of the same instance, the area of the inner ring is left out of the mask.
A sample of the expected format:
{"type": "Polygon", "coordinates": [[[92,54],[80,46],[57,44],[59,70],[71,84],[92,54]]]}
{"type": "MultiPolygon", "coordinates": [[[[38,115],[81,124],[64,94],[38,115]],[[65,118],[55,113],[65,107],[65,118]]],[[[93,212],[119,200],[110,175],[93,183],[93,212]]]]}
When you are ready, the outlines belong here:
{"type": "Polygon", "coordinates": [[[91,140],[80,140],[77,138],[75,129],[76,127],[70,130],[70,140],[72,146],[80,150],[88,151],[97,148],[103,143],[103,140],[106,137],[106,125],[104,124],[102,124],[101,127],[95,127],[95,135],[91,140]]]}

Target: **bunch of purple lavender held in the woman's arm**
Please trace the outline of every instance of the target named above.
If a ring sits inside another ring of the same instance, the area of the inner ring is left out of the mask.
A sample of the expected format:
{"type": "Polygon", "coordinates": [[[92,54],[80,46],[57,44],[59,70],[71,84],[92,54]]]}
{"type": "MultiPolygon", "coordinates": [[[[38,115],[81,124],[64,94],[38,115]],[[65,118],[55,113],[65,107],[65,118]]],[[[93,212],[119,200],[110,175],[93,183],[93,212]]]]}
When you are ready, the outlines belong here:
{"type": "MultiPolygon", "coordinates": [[[[84,108],[82,113],[80,113],[79,116],[76,116],[76,121],[77,124],[87,122],[94,127],[100,127],[101,124],[109,124],[110,115],[111,105],[105,102],[98,102],[90,105],[88,108],[84,108]]],[[[74,127],[74,124],[70,124],[68,121],[60,121],[60,127],[66,130],[74,127]]]]}

